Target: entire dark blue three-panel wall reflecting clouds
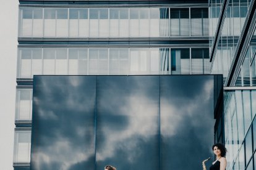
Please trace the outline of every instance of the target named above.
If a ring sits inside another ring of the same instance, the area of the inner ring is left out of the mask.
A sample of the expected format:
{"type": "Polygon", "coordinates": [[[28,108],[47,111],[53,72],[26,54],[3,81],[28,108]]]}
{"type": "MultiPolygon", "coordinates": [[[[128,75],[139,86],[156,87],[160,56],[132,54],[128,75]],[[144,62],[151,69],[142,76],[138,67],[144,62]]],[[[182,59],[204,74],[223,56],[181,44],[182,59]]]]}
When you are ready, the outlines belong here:
{"type": "Polygon", "coordinates": [[[202,168],[214,77],[35,76],[31,169],[202,168]]]}

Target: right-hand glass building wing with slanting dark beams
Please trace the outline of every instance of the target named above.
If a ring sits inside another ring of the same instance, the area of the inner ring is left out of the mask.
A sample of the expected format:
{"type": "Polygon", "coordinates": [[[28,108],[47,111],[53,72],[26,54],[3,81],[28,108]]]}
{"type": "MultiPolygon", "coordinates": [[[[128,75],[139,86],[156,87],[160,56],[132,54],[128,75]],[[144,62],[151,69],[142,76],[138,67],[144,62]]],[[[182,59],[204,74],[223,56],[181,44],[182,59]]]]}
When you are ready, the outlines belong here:
{"type": "Polygon", "coordinates": [[[223,74],[224,111],[215,141],[227,169],[256,169],[255,1],[209,1],[211,73],[223,74]]]}

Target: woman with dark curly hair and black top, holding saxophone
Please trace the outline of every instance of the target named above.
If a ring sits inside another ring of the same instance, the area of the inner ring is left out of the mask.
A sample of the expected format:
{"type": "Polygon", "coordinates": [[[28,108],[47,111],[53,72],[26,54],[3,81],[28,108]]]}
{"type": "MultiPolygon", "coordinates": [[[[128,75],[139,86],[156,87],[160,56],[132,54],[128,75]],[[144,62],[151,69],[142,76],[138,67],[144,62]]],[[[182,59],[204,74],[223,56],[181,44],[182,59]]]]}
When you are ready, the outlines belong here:
{"type": "Polygon", "coordinates": [[[227,166],[227,161],[224,156],[226,156],[227,149],[223,144],[214,144],[212,147],[213,153],[216,155],[216,160],[210,167],[210,170],[225,170],[227,166]]]}

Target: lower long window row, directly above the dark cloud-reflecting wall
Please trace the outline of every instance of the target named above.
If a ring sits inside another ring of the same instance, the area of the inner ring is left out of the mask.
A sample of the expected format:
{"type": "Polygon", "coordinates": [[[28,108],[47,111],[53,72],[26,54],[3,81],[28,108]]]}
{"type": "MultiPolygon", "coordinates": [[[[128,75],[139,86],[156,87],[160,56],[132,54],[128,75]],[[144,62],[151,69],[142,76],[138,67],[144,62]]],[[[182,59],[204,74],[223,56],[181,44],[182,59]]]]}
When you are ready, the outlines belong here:
{"type": "Polygon", "coordinates": [[[209,73],[207,48],[19,48],[17,78],[33,75],[209,73]],[[191,55],[190,55],[191,51],[191,55]]]}

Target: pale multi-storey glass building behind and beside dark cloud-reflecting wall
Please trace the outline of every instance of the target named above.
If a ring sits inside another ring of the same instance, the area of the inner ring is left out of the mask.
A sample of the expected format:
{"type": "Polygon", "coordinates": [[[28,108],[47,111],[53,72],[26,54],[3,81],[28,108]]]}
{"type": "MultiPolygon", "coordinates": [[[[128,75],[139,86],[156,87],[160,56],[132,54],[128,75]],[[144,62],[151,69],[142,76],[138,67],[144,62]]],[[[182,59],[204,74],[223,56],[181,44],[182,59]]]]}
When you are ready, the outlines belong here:
{"type": "Polygon", "coordinates": [[[254,1],[19,2],[14,169],[30,169],[33,75],[205,74],[224,79],[213,141],[252,169],[254,1]]]}

